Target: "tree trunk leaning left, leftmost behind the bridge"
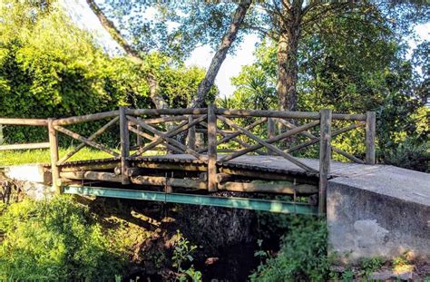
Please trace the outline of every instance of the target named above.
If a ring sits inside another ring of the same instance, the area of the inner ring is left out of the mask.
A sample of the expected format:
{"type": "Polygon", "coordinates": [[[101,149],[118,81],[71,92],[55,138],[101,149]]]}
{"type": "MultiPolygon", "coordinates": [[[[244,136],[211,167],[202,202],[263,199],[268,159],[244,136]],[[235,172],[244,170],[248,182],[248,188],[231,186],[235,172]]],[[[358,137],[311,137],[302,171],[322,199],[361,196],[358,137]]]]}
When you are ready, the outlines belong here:
{"type": "MultiPolygon", "coordinates": [[[[139,55],[139,52],[134,50],[131,45],[127,44],[127,41],[122,36],[120,31],[116,28],[115,24],[110,21],[106,15],[103,14],[102,9],[93,1],[93,0],[86,0],[86,3],[90,6],[90,8],[93,10],[93,13],[99,18],[100,23],[102,24],[103,28],[112,36],[112,39],[115,40],[124,52],[132,59],[133,62],[142,64],[142,58],[139,55]]],[[[162,98],[160,94],[160,89],[158,86],[157,78],[153,73],[148,73],[146,77],[146,81],[148,83],[148,86],[150,88],[150,97],[152,103],[155,105],[155,108],[157,109],[166,109],[168,108],[167,102],[162,98]]]]}

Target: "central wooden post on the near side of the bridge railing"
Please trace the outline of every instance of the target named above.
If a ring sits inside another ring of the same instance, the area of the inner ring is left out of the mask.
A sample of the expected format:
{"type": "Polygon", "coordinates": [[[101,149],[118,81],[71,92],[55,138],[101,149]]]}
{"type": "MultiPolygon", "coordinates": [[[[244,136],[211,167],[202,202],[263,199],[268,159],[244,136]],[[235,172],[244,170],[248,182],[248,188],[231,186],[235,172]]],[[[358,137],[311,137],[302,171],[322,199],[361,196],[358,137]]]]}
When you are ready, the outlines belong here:
{"type": "Polygon", "coordinates": [[[215,106],[208,106],[208,190],[217,191],[217,115],[215,106]]]}

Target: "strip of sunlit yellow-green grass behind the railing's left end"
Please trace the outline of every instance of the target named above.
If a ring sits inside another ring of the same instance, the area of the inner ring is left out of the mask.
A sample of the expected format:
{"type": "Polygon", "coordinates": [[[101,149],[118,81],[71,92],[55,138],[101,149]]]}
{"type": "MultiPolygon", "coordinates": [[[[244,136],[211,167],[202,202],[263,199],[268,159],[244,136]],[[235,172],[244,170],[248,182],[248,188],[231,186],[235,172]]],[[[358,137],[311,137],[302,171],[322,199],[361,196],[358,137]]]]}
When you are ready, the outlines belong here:
{"type": "MultiPolygon", "coordinates": [[[[73,149],[60,149],[60,158],[73,149]]],[[[90,148],[83,148],[69,160],[93,160],[112,158],[104,151],[95,151],[90,148]]],[[[18,165],[27,163],[50,163],[50,153],[48,149],[27,150],[27,151],[0,151],[0,166],[18,165]]]]}

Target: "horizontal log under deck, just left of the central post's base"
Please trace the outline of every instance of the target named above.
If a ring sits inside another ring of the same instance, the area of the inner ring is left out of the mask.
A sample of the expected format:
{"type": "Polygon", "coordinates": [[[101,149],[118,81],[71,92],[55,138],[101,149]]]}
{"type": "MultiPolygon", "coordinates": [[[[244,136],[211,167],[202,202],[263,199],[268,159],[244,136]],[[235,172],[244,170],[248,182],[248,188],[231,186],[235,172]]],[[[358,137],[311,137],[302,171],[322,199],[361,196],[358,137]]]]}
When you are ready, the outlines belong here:
{"type": "Polygon", "coordinates": [[[166,178],[163,176],[136,176],[132,177],[133,184],[148,185],[148,186],[172,186],[182,187],[197,190],[206,190],[206,182],[200,180],[175,179],[166,178]]]}

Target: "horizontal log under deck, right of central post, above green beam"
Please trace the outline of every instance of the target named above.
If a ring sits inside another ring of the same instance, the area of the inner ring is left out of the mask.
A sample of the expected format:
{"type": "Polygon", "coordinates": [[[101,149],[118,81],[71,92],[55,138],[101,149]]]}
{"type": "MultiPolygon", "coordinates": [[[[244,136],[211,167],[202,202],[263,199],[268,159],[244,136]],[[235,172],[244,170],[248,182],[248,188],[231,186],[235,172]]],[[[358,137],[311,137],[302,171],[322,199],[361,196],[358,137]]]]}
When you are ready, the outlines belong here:
{"type": "Polygon", "coordinates": [[[253,192],[253,193],[274,193],[274,194],[287,194],[308,196],[318,193],[318,187],[309,184],[293,183],[249,183],[249,182],[226,182],[218,186],[219,190],[228,190],[235,192],[253,192]]]}

